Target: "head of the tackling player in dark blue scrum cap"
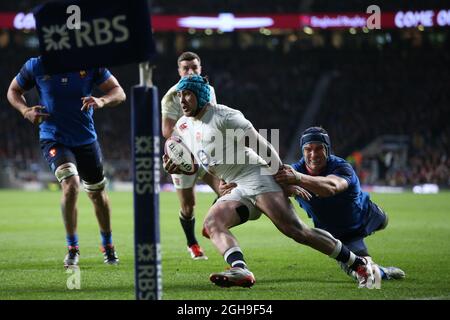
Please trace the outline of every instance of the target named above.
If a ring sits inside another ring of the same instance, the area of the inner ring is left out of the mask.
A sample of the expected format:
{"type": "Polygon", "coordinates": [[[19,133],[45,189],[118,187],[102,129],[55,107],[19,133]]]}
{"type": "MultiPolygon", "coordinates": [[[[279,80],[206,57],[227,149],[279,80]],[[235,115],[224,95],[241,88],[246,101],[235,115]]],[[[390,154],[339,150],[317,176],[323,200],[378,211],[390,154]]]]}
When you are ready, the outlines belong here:
{"type": "Polygon", "coordinates": [[[331,141],[324,128],[306,129],[300,138],[300,147],[309,169],[320,171],[327,165],[327,159],[331,154],[331,141]]]}

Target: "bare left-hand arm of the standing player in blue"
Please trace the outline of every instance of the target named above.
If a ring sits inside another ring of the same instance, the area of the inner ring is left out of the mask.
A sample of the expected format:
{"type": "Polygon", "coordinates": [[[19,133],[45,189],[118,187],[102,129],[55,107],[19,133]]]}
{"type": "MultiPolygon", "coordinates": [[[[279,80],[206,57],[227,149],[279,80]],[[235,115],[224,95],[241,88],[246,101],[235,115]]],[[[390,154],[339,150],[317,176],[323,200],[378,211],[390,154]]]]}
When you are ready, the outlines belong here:
{"type": "Polygon", "coordinates": [[[25,97],[23,96],[25,90],[19,85],[17,80],[14,78],[8,88],[7,98],[9,103],[19,111],[22,116],[30,121],[32,124],[39,124],[50,115],[48,113],[42,112],[45,109],[43,106],[34,106],[29,108],[25,97]]]}

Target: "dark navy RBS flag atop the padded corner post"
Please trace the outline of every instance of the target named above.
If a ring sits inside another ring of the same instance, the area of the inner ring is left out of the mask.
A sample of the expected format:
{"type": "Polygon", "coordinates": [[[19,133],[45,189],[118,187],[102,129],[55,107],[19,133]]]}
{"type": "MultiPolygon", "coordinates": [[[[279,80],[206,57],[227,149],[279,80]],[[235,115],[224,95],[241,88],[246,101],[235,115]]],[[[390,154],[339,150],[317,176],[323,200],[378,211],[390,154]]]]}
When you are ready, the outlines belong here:
{"type": "Polygon", "coordinates": [[[34,16],[46,73],[144,62],[155,53],[146,0],[48,2],[34,16]]]}

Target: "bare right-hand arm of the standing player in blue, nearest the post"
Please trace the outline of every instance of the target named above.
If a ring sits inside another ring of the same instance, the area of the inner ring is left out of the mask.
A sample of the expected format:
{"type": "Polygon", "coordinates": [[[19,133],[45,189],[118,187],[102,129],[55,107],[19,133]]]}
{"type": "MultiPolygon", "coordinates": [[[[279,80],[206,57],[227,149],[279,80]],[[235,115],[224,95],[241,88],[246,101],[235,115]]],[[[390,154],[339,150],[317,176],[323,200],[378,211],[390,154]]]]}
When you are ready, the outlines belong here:
{"type": "Polygon", "coordinates": [[[81,101],[83,105],[81,107],[81,111],[89,110],[90,108],[100,109],[103,107],[114,107],[124,102],[127,98],[119,82],[113,75],[111,75],[108,80],[100,84],[99,88],[105,94],[100,98],[93,96],[82,97],[81,101]]]}

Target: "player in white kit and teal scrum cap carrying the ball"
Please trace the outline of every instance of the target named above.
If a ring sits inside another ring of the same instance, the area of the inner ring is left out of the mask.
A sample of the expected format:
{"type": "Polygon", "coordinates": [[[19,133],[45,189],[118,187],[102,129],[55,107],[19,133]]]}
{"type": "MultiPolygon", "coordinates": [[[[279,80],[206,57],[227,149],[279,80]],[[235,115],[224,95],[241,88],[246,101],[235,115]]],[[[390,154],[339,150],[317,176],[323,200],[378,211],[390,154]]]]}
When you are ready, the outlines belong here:
{"type": "MultiPolygon", "coordinates": [[[[282,165],[277,152],[240,111],[211,104],[208,81],[199,75],[183,77],[176,90],[184,116],[177,121],[175,130],[210,174],[237,184],[210,208],[203,225],[203,234],[230,265],[230,269],[210,275],[213,283],[221,287],[250,287],[255,283],[238,241],[229,229],[258,219],[263,212],[284,235],[348,265],[356,272],[360,288],[379,287],[381,279],[374,276],[370,261],[356,256],[328,232],[310,228],[299,219],[271,175],[282,165]],[[230,157],[234,154],[232,149],[236,145],[239,148],[245,137],[258,141],[260,150],[261,147],[270,149],[270,165],[248,147],[242,147],[241,153],[230,157]]],[[[164,155],[164,168],[168,172],[178,170],[167,155],[164,155]]],[[[310,196],[306,190],[302,192],[304,197],[310,196]]]]}

